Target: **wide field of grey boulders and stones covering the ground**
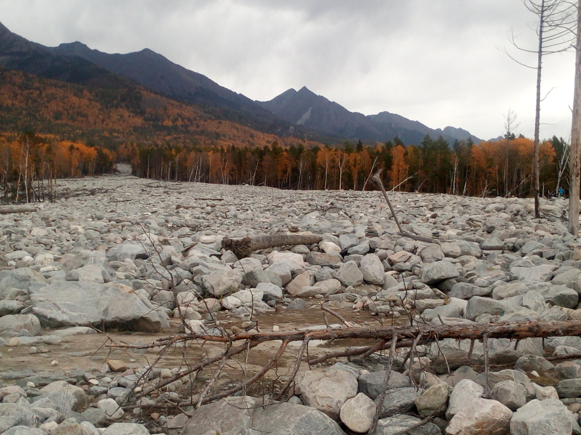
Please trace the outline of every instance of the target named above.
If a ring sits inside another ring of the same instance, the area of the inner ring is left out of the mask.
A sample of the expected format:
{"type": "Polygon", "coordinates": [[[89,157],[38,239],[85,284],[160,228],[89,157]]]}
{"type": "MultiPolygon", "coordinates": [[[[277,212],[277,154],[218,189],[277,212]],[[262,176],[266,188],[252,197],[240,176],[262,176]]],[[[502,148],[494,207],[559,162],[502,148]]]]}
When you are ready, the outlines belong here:
{"type": "MultiPolygon", "coordinates": [[[[361,326],[581,320],[581,241],[566,231],[566,200],[541,200],[534,219],[532,199],[390,193],[404,229],[426,243],[400,237],[377,191],[160,182],[120,169],[59,180],[56,202],[0,215],[0,435],[367,433],[385,353],[303,362],[283,401],[265,387],[196,410],[194,393],[237,385],[239,369],[130,397],[223,348],[198,340],[160,356],[104,344],[324,329],[321,303],[361,326]],[[240,260],[221,247],[289,232],[323,240],[240,260]]],[[[311,343],[310,357],[370,343],[311,343]]],[[[279,380],[295,365],[291,344],[279,380]]],[[[483,344],[470,347],[444,339],[411,361],[399,349],[374,433],[581,434],[580,337],[489,339],[487,378],[483,344]]],[[[238,360],[250,372],[278,345],[256,349],[238,360]]]]}

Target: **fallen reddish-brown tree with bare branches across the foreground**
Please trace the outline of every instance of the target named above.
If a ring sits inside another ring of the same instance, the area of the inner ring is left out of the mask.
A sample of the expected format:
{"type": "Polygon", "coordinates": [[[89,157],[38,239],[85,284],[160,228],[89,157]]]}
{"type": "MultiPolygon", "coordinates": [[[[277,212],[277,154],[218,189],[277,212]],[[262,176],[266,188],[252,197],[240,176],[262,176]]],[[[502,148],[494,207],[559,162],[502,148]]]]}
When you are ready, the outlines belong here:
{"type": "MultiPolygon", "coordinates": [[[[200,360],[198,364],[194,364],[188,367],[185,371],[178,372],[178,374],[171,376],[171,378],[160,380],[156,386],[150,386],[146,388],[141,393],[135,394],[136,398],[145,396],[151,391],[160,389],[177,379],[181,379],[184,376],[191,374],[192,372],[199,371],[205,367],[208,367],[215,362],[220,360],[227,360],[228,358],[234,357],[236,354],[242,353],[243,351],[250,350],[260,343],[269,342],[272,340],[281,340],[282,346],[280,347],[277,355],[273,357],[268,364],[266,364],[261,371],[247,380],[245,383],[234,387],[231,390],[224,391],[224,393],[217,393],[212,396],[202,398],[200,404],[207,403],[211,400],[216,400],[217,398],[225,397],[228,394],[238,391],[243,386],[248,386],[250,383],[256,382],[261,376],[263,376],[268,369],[275,364],[279,357],[286,349],[286,345],[293,341],[302,341],[299,353],[297,354],[295,370],[293,371],[293,379],[296,372],[299,369],[300,361],[302,361],[303,353],[307,349],[307,344],[310,340],[340,340],[340,339],[376,339],[379,340],[373,346],[364,346],[360,349],[346,349],[343,351],[333,351],[327,353],[324,356],[315,358],[308,361],[309,364],[316,364],[317,362],[322,362],[328,360],[329,358],[344,357],[344,356],[356,356],[363,355],[366,356],[374,353],[375,351],[380,351],[389,347],[410,347],[408,351],[407,358],[413,358],[413,349],[415,345],[418,344],[419,338],[421,338],[422,345],[426,343],[434,342],[437,340],[442,340],[446,338],[452,339],[470,339],[470,340],[487,340],[489,338],[509,338],[515,340],[521,340],[525,338],[547,338],[552,336],[579,336],[581,335],[581,321],[580,320],[568,320],[568,321],[544,321],[544,322],[514,322],[514,323],[503,323],[503,324],[472,324],[472,325],[438,325],[434,326],[429,323],[418,324],[416,322],[413,326],[391,326],[391,327],[376,327],[376,328],[343,328],[343,329],[327,329],[318,331],[277,331],[277,332],[242,332],[235,335],[224,335],[224,336],[213,336],[213,335],[197,335],[197,334],[180,334],[174,336],[168,336],[166,338],[158,339],[149,345],[130,345],[128,343],[112,343],[107,345],[107,347],[123,347],[132,349],[150,349],[153,347],[164,347],[169,349],[170,346],[177,346],[178,343],[184,343],[190,340],[203,340],[205,342],[221,342],[226,346],[224,352],[213,358],[206,358],[200,360]],[[395,338],[397,338],[397,343],[394,343],[395,338]],[[231,347],[234,342],[242,342],[236,347],[231,347]]],[[[485,354],[487,353],[485,346],[485,354]]],[[[308,351],[307,351],[308,359],[308,351]]],[[[485,358],[485,367],[487,367],[487,362],[485,358]]],[[[289,387],[290,383],[287,382],[284,391],[289,387]]],[[[196,398],[194,403],[199,400],[196,398]]]]}

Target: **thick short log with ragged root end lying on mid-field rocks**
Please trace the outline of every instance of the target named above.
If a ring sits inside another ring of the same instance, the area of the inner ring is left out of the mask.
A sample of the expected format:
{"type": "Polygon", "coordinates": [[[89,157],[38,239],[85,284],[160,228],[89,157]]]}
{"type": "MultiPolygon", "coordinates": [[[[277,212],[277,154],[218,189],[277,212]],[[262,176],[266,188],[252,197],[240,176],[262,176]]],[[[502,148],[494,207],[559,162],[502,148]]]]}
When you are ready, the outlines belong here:
{"type": "Polygon", "coordinates": [[[222,248],[229,249],[236,257],[246,258],[254,251],[259,249],[274,248],[278,246],[291,245],[312,245],[323,240],[322,236],[317,234],[276,234],[263,235],[256,238],[228,238],[222,240],[222,248]]]}

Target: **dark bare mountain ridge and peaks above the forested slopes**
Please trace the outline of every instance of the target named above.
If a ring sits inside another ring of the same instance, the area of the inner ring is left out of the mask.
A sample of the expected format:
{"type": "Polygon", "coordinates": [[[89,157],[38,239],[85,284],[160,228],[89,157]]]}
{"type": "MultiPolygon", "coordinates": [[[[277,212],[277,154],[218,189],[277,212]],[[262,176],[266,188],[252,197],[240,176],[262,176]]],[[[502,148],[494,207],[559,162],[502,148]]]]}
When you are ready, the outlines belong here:
{"type": "Polygon", "coordinates": [[[47,47],[10,32],[1,23],[0,64],[44,78],[99,88],[127,86],[128,80],[137,82],[170,99],[195,104],[215,118],[279,136],[304,136],[323,143],[345,139],[385,142],[397,136],[405,144],[418,144],[425,135],[434,139],[442,136],[450,143],[468,137],[480,142],[463,129],[431,129],[387,111],[367,116],[351,112],[306,87],[286,90],[268,102],[253,101],[150,49],[109,54],[81,42],[47,47]]]}

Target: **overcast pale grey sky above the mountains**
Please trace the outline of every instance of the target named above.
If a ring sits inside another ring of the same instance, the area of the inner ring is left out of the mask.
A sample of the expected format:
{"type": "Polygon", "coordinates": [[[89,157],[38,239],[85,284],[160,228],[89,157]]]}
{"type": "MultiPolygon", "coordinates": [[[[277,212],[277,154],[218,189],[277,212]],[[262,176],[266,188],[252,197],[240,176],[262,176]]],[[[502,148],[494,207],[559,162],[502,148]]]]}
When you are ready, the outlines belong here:
{"type": "MultiPolygon", "coordinates": [[[[511,108],[532,137],[537,17],[521,0],[0,0],[0,21],[48,46],[150,48],[254,100],[310,90],[365,115],[504,132],[511,108]]],[[[574,53],[546,56],[541,138],[571,132],[574,53]]]]}

